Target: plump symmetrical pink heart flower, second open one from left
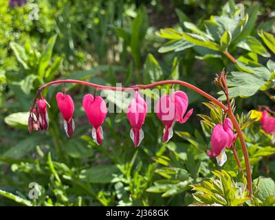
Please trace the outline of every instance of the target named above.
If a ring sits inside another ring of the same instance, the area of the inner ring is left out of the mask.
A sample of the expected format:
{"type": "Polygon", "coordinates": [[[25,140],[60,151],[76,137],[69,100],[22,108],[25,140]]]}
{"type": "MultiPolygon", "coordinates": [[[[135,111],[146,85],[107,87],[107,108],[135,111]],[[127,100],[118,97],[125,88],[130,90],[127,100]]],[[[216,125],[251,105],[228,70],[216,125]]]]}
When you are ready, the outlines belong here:
{"type": "Polygon", "coordinates": [[[87,94],[83,98],[83,107],[91,126],[93,126],[91,136],[95,142],[100,145],[102,144],[103,138],[101,124],[104,122],[104,119],[107,115],[106,103],[100,96],[96,96],[94,98],[94,96],[91,94],[87,94]]]}

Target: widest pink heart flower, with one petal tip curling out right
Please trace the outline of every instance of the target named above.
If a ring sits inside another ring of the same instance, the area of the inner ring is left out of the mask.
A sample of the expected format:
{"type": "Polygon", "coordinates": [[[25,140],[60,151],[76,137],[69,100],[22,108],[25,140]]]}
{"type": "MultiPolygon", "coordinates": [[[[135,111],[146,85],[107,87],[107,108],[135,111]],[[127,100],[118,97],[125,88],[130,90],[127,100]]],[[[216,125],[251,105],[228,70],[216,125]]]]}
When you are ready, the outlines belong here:
{"type": "Polygon", "coordinates": [[[188,96],[184,91],[175,91],[170,96],[164,95],[157,101],[155,107],[157,118],[165,125],[162,137],[163,142],[166,143],[173,137],[173,125],[175,122],[183,124],[192,115],[193,109],[186,113],[187,107],[188,96]],[[186,115],[184,116],[185,113],[186,115]]]}

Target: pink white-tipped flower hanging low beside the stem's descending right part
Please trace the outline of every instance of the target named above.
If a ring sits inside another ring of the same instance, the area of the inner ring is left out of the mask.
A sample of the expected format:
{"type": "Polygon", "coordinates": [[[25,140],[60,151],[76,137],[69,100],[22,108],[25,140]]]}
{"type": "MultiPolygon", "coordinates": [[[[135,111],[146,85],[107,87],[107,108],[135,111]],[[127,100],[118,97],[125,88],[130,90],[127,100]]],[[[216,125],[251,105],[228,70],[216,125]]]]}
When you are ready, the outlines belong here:
{"type": "Polygon", "coordinates": [[[211,134],[212,151],[208,150],[207,154],[210,157],[216,157],[219,166],[223,166],[227,160],[225,148],[230,148],[236,140],[236,137],[237,135],[234,135],[231,120],[225,118],[223,124],[217,124],[214,126],[211,134]]]}

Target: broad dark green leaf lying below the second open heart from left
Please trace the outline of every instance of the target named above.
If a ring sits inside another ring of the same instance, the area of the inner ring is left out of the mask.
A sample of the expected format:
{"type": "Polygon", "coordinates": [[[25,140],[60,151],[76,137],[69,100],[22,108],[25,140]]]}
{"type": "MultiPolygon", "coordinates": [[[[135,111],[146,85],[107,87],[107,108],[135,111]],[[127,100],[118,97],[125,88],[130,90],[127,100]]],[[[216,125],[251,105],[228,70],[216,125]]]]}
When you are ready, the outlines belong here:
{"type": "Polygon", "coordinates": [[[104,164],[81,170],[80,179],[93,184],[108,184],[113,179],[113,174],[118,173],[115,165],[104,164]]]}

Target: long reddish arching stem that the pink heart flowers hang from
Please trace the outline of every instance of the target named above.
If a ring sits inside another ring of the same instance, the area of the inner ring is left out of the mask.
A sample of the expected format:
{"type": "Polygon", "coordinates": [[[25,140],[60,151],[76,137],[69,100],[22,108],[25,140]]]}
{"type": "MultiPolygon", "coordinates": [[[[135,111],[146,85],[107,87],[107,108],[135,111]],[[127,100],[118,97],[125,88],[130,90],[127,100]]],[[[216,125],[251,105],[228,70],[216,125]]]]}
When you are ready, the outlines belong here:
{"type": "MultiPolygon", "coordinates": [[[[94,84],[94,83],[89,83],[89,82],[85,82],[82,80],[54,80],[50,83],[46,83],[45,85],[41,86],[38,90],[37,90],[37,94],[34,98],[34,102],[32,104],[32,107],[30,109],[30,114],[32,112],[32,109],[34,109],[34,106],[36,104],[36,100],[39,97],[39,95],[42,93],[43,89],[45,87],[48,87],[50,85],[56,85],[56,84],[61,84],[61,83],[76,83],[79,85],[86,85],[89,87],[94,87],[97,90],[113,90],[113,91],[126,91],[126,90],[138,90],[138,89],[149,89],[152,87],[157,87],[159,85],[168,85],[168,84],[174,84],[174,85],[181,85],[184,87],[188,87],[189,89],[192,89],[193,91],[195,91],[197,94],[200,94],[201,96],[207,98],[208,100],[214,102],[214,104],[217,104],[219,107],[221,107],[221,109],[223,109],[224,113],[228,114],[228,117],[232,120],[232,124],[234,126],[234,129],[236,129],[236,133],[238,134],[238,137],[240,138],[241,141],[241,147],[243,150],[243,156],[245,159],[245,168],[246,168],[246,173],[247,173],[247,179],[248,179],[248,190],[249,190],[249,197],[252,197],[252,174],[251,174],[251,168],[250,168],[250,161],[249,161],[249,156],[248,156],[248,149],[246,148],[246,144],[245,144],[245,139],[243,137],[243,133],[241,131],[241,128],[234,116],[234,113],[232,112],[232,109],[230,107],[230,104],[228,104],[228,107],[225,106],[225,104],[223,104],[221,101],[217,100],[216,98],[214,98],[213,96],[210,96],[210,94],[206,93],[205,91],[199,89],[198,87],[195,87],[194,85],[190,84],[190,83],[186,83],[184,81],[181,80],[163,80],[163,81],[159,81],[156,83],[151,83],[151,84],[147,84],[147,85],[134,85],[133,87],[109,87],[109,86],[104,86],[104,85],[98,85],[98,84],[94,84]]],[[[226,82],[224,82],[226,85],[226,82]]]]}

